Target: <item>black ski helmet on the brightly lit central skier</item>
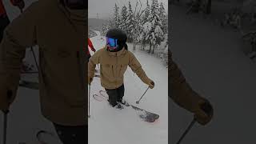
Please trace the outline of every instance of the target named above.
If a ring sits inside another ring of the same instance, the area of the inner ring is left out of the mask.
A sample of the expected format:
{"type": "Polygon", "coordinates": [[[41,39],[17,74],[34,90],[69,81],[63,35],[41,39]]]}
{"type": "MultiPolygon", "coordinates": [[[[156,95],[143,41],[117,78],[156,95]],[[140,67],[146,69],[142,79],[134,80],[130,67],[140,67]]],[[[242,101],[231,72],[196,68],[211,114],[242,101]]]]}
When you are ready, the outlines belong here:
{"type": "Polygon", "coordinates": [[[127,35],[126,35],[126,32],[121,29],[113,28],[113,29],[108,30],[106,32],[106,37],[118,39],[117,51],[122,50],[122,47],[126,46],[127,35]]]}

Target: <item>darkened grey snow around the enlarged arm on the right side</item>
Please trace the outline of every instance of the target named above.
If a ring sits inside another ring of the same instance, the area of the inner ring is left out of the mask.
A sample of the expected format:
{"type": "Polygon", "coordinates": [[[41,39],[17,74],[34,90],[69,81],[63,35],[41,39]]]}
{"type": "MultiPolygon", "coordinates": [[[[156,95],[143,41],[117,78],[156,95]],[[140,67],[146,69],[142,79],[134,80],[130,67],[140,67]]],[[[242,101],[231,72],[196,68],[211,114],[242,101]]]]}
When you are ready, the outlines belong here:
{"type": "MultiPolygon", "coordinates": [[[[214,106],[208,126],[195,125],[182,144],[255,143],[256,65],[242,53],[239,33],[223,30],[199,14],[172,6],[170,49],[190,85],[214,106]]],[[[170,100],[170,143],[192,115],[170,100]]]]}

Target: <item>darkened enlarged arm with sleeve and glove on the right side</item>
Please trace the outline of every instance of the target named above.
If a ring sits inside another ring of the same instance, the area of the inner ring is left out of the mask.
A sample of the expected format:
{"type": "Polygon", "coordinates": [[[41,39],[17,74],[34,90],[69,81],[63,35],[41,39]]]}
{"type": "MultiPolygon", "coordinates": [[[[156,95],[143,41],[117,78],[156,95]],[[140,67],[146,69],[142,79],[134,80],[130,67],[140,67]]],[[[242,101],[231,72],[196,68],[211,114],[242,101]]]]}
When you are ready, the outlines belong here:
{"type": "Polygon", "coordinates": [[[214,115],[213,106],[206,98],[202,98],[186,82],[181,70],[172,59],[172,53],[169,52],[168,76],[170,98],[182,108],[189,110],[194,114],[198,123],[206,125],[211,121],[214,115]]]}

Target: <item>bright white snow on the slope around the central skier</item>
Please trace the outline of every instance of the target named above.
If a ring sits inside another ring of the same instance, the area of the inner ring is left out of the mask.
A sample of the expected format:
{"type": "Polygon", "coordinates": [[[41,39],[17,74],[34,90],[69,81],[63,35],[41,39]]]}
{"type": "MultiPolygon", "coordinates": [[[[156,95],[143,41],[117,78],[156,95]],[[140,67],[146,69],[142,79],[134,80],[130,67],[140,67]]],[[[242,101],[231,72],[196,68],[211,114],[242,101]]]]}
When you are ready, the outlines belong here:
{"type": "MultiPolygon", "coordinates": [[[[103,37],[104,38],[104,37],[103,37]]],[[[91,38],[94,47],[101,49],[105,44],[100,36],[91,38]]],[[[128,45],[132,47],[131,44],[128,45]]],[[[146,74],[154,80],[155,87],[148,90],[139,105],[135,104],[145,92],[147,86],[136,74],[127,69],[125,74],[126,101],[160,115],[158,122],[142,122],[133,109],[115,110],[107,102],[98,102],[90,98],[89,143],[122,144],[167,144],[168,143],[168,73],[158,58],[139,50],[133,51],[141,62],[146,74]]],[[[92,53],[91,53],[92,54],[92,53]]],[[[96,67],[98,69],[98,67],[96,67]]],[[[100,79],[94,78],[91,84],[91,95],[104,90],[100,79]]]]}

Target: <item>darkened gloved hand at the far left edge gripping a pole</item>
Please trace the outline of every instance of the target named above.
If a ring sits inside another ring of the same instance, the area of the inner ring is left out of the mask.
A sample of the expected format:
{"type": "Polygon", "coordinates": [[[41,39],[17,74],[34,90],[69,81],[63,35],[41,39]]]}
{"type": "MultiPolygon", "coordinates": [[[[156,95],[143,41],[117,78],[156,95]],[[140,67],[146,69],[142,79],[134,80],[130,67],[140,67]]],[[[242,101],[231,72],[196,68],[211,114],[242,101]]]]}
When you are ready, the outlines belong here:
{"type": "Polygon", "coordinates": [[[13,93],[11,90],[7,90],[6,87],[0,88],[0,110],[9,110],[10,103],[13,102],[13,93]]]}

